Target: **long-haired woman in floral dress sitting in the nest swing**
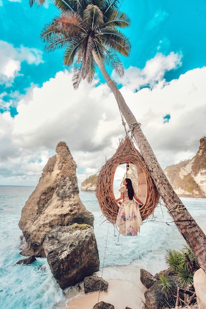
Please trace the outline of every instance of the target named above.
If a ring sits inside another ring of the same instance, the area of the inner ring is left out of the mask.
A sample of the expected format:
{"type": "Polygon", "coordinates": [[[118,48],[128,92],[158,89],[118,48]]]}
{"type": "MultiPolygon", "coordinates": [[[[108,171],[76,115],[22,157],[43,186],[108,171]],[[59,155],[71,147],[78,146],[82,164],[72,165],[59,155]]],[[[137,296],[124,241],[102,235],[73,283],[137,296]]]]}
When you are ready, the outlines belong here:
{"type": "Polygon", "coordinates": [[[143,203],[134,193],[131,179],[125,178],[123,184],[124,187],[119,190],[121,192],[121,196],[116,199],[116,202],[123,199],[123,203],[120,202],[116,225],[119,228],[119,232],[124,236],[137,236],[139,227],[143,224],[138,203],[142,205],[143,203]]]}

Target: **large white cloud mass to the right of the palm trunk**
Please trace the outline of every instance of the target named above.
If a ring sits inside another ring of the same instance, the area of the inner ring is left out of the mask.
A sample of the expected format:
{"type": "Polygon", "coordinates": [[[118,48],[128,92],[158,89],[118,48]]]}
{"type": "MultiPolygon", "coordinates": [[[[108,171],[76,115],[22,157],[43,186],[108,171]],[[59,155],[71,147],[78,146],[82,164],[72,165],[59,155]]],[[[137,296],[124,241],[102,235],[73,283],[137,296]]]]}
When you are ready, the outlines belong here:
{"type": "Polygon", "coordinates": [[[126,101],[142,123],[161,165],[191,158],[206,135],[206,68],[195,69],[152,90],[136,93],[124,88],[126,101]],[[168,123],[163,117],[170,115],[168,123]]]}

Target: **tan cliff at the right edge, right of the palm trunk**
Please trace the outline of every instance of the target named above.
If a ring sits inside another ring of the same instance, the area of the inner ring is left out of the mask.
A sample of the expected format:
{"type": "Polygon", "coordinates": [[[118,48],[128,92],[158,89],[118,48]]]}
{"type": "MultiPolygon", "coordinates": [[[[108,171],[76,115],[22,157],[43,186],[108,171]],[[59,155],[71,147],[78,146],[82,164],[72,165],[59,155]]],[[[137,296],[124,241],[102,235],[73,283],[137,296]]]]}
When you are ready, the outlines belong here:
{"type": "Polygon", "coordinates": [[[197,154],[191,159],[167,166],[164,170],[177,195],[206,197],[206,137],[200,140],[197,154]]]}

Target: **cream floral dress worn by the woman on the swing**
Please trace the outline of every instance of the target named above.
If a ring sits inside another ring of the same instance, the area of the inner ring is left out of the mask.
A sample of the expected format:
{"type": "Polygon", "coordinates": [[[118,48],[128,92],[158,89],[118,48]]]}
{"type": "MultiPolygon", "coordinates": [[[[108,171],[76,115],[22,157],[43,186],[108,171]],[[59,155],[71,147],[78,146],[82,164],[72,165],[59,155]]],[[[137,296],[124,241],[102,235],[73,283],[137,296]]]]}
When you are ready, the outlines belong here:
{"type": "Polygon", "coordinates": [[[129,199],[126,187],[120,188],[119,191],[124,193],[124,197],[123,202],[120,203],[116,225],[119,228],[119,232],[124,236],[137,236],[139,227],[143,224],[139,204],[137,201],[129,199]]]}

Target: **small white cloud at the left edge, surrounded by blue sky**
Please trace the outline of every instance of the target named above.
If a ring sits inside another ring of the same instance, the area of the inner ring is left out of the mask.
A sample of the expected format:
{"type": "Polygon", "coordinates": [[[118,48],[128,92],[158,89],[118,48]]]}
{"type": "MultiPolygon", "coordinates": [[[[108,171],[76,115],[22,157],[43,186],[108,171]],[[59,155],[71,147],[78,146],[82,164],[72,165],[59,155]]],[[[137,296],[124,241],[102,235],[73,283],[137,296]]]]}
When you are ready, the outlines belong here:
{"type": "Polygon", "coordinates": [[[42,52],[37,48],[21,45],[14,48],[12,44],[0,40],[0,84],[9,86],[14,78],[20,75],[21,62],[39,65],[42,63],[42,52]]]}

